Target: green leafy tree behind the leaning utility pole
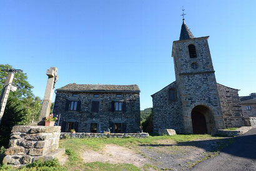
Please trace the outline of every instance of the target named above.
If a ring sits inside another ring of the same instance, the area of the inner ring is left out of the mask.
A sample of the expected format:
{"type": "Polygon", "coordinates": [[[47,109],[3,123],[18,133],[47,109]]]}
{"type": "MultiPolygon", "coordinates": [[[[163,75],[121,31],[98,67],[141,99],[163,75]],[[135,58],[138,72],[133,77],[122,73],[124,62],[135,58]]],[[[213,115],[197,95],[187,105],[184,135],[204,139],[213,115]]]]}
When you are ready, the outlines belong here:
{"type": "MultiPolygon", "coordinates": [[[[0,65],[0,69],[13,69],[9,64],[0,65]]],[[[8,73],[0,71],[0,90],[2,91],[8,73]]],[[[32,85],[27,82],[24,72],[16,72],[12,85],[16,85],[16,92],[10,92],[2,122],[0,125],[0,147],[6,145],[6,141],[14,125],[27,125],[37,120],[41,110],[41,99],[32,94],[32,85]]],[[[9,140],[9,139],[7,139],[9,140]]]]}

